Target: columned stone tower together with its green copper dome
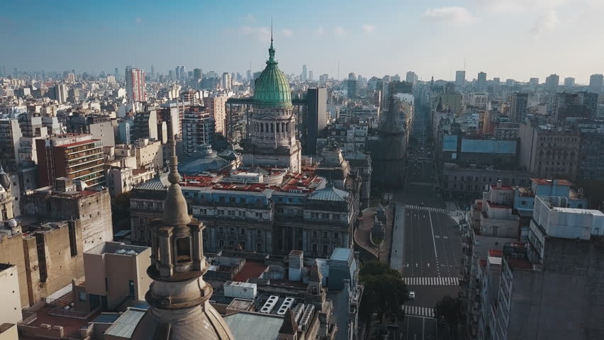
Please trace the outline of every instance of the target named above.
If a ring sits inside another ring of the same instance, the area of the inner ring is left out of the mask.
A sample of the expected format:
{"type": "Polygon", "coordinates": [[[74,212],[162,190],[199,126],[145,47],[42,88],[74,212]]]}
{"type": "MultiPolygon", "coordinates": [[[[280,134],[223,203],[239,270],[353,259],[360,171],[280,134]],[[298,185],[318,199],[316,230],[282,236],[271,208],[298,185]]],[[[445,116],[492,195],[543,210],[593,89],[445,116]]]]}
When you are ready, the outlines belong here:
{"type": "Polygon", "coordinates": [[[301,145],[296,140],[291,89],[277,64],[271,37],[267,67],[255,83],[254,110],[247,127],[248,142],[243,145],[243,162],[250,166],[287,166],[290,171],[298,172],[301,145]]]}

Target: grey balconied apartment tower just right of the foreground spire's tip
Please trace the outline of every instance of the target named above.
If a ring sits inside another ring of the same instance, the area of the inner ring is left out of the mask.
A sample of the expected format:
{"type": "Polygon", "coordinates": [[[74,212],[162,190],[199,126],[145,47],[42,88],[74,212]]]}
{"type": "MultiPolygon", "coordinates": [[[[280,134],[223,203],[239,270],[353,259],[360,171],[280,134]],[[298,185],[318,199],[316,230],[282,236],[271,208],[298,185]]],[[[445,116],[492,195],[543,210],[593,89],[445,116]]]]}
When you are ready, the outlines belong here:
{"type": "Polygon", "coordinates": [[[216,123],[205,106],[191,106],[182,120],[182,152],[191,157],[194,152],[203,151],[201,145],[214,142],[216,123]]]}

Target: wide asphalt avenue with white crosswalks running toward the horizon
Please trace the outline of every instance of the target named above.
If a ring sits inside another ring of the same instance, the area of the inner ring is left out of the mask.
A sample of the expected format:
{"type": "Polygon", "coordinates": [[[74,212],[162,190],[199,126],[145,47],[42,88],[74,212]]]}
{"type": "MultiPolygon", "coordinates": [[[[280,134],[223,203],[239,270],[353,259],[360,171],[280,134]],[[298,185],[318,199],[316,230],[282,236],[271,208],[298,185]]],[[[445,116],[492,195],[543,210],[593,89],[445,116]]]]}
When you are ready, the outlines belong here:
{"type": "Polygon", "coordinates": [[[413,124],[417,144],[408,154],[406,185],[394,193],[391,254],[391,268],[401,271],[415,300],[404,306],[406,317],[398,324],[396,339],[448,339],[447,334],[438,334],[444,332],[437,328],[433,307],[445,295],[457,297],[462,244],[444,199],[435,193],[432,150],[425,145],[429,112],[417,109],[413,124]]]}

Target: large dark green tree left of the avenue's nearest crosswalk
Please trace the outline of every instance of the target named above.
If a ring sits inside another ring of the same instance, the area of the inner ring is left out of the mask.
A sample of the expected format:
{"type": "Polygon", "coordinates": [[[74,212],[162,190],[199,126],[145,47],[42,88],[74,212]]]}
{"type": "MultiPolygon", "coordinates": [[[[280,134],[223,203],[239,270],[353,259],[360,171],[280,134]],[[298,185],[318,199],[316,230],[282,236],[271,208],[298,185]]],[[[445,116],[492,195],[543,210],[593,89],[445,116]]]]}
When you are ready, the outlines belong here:
{"type": "Polygon", "coordinates": [[[401,306],[407,300],[408,291],[401,273],[388,263],[375,261],[361,268],[359,279],[364,284],[359,313],[365,322],[369,322],[373,313],[377,313],[378,319],[384,315],[404,316],[401,306]]]}

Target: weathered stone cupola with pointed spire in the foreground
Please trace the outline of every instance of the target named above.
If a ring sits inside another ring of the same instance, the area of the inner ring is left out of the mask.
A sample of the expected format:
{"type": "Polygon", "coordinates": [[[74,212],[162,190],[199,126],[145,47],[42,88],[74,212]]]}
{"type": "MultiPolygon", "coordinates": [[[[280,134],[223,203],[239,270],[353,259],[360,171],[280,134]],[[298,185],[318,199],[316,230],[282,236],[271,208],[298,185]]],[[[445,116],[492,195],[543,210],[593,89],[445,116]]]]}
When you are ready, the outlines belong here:
{"type": "Polygon", "coordinates": [[[203,223],[189,216],[179,185],[176,141],[168,175],[164,218],[153,226],[153,279],[145,300],[150,305],[131,339],[233,339],[224,319],[210,305],[212,287],[203,281],[203,223]]]}

